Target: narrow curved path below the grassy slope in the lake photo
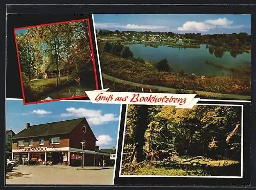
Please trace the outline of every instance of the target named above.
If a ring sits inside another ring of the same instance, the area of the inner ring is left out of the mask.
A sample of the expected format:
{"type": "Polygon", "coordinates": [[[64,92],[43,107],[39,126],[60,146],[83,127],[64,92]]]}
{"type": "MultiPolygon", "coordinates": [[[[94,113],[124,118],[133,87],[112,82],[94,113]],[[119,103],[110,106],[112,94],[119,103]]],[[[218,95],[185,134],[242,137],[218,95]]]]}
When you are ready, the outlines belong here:
{"type": "MultiPolygon", "coordinates": [[[[140,83],[134,83],[127,80],[119,79],[114,76],[110,76],[108,74],[101,73],[102,77],[108,80],[111,80],[116,83],[121,83],[124,85],[136,86],[140,88],[151,88],[152,90],[159,90],[168,93],[176,93],[176,89],[168,88],[168,87],[161,87],[161,86],[154,86],[154,85],[145,85],[140,83]]],[[[111,88],[110,88],[111,89],[111,88]]],[[[190,94],[193,94],[193,90],[187,90],[190,94]]],[[[196,91],[197,94],[200,96],[211,96],[223,99],[239,99],[239,100],[251,100],[251,96],[247,95],[239,95],[239,94],[222,94],[222,93],[214,93],[214,92],[205,92],[205,91],[196,91]]]]}

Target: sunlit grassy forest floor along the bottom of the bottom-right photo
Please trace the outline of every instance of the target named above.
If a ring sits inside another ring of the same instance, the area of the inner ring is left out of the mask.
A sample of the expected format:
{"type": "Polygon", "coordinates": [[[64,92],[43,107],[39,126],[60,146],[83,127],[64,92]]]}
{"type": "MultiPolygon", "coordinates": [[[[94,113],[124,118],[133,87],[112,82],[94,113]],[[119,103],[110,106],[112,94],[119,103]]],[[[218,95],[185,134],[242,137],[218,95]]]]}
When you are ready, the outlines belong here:
{"type": "Polygon", "coordinates": [[[162,166],[150,161],[143,161],[137,165],[125,164],[122,166],[121,175],[137,176],[227,176],[239,175],[239,162],[234,160],[193,160],[182,163],[186,159],[174,162],[172,166],[162,166]],[[200,164],[198,164],[200,163],[200,164]],[[238,169],[238,171],[237,171],[238,169]],[[233,172],[235,171],[235,172],[233,172]],[[226,174],[227,173],[227,174],[226,174]]]}

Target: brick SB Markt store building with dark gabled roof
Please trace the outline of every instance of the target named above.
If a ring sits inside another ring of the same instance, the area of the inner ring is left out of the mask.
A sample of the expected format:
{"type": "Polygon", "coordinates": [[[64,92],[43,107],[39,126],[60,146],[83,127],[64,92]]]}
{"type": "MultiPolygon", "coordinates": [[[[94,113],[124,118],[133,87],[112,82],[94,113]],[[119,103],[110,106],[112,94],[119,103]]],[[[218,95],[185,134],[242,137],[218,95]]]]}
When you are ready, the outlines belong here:
{"type": "Polygon", "coordinates": [[[26,123],[25,129],[12,138],[12,158],[98,166],[103,159],[110,159],[110,154],[99,152],[96,141],[86,118],[39,125],[26,123]]]}

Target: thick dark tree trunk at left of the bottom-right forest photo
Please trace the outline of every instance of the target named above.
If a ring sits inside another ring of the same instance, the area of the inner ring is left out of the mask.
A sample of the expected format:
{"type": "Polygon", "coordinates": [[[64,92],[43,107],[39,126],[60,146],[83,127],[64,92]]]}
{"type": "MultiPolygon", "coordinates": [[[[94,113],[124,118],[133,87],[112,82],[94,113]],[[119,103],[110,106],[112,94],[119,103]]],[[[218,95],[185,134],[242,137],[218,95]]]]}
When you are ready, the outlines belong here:
{"type": "Polygon", "coordinates": [[[135,131],[135,142],[137,143],[137,148],[133,157],[133,164],[137,164],[144,159],[143,146],[145,143],[145,131],[148,125],[148,105],[139,105],[139,110],[137,114],[137,126],[135,131]]]}

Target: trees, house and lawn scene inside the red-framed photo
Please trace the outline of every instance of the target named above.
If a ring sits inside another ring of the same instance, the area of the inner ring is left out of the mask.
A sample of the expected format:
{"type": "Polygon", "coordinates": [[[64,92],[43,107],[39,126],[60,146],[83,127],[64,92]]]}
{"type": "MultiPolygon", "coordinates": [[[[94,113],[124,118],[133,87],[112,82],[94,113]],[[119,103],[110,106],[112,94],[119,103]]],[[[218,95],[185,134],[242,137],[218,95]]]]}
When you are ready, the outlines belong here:
{"type": "Polygon", "coordinates": [[[95,89],[88,30],[82,20],[15,31],[26,102],[76,83],[95,89]]]}

